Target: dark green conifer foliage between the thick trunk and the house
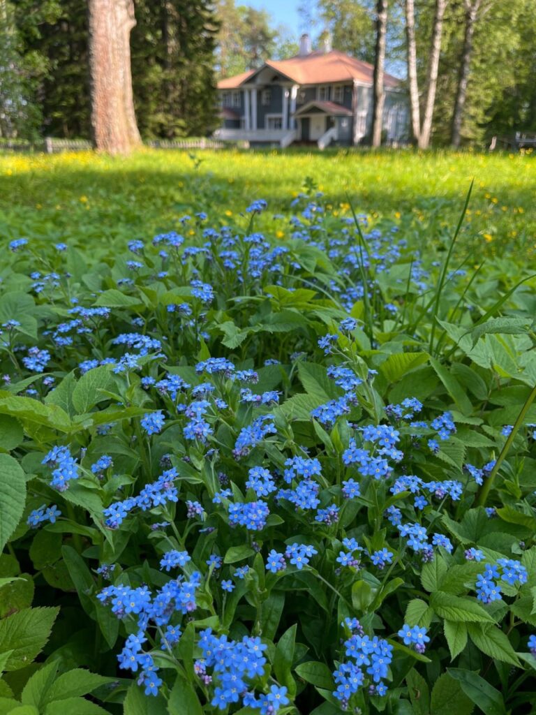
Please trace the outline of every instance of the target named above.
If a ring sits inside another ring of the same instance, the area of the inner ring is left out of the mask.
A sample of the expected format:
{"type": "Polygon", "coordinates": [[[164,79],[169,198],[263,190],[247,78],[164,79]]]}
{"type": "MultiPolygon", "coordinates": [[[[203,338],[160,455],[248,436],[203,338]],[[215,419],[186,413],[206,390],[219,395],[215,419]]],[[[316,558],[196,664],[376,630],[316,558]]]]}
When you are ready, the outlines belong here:
{"type": "Polygon", "coordinates": [[[139,0],[131,33],[139,131],[145,138],[204,135],[217,125],[214,49],[207,0],[139,0]]]}

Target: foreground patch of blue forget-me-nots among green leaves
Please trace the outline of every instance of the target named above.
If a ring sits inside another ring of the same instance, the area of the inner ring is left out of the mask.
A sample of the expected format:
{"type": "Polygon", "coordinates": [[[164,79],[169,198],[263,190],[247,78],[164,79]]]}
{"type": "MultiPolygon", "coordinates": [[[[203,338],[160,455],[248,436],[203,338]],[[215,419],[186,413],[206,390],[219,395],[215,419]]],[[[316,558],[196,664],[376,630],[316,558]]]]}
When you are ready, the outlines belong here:
{"type": "Polygon", "coordinates": [[[4,240],[0,715],[536,713],[536,277],[462,204],[4,240]]]}

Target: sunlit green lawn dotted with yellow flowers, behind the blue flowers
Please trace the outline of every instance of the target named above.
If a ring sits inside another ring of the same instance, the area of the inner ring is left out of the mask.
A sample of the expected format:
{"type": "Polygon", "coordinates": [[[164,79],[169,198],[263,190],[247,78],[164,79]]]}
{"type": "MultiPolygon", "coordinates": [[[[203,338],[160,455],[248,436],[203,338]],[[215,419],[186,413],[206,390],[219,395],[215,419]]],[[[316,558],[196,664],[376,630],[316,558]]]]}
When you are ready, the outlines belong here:
{"type": "Polygon", "coordinates": [[[229,222],[252,199],[290,212],[310,177],[334,209],[400,220],[427,239],[457,221],[472,179],[469,230],[482,252],[533,255],[536,162],[527,154],[412,151],[309,152],[145,150],[131,157],[89,152],[0,155],[0,228],[9,239],[47,236],[109,241],[150,237],[185,212],[229,222]]]}

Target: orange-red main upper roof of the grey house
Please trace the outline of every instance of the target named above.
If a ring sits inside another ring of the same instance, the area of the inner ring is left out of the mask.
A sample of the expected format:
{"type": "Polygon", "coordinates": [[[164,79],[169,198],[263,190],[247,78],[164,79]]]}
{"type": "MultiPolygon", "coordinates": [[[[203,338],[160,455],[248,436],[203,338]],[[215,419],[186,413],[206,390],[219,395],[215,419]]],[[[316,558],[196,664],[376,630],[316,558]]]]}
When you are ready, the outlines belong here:
{"type": "MultiPolygon", "coordinates": [[[[265,67],[274,69],[296,84],[328,84],[353,80],[372,84],[374,74],[372,64],[355,59],[336,49],[330,52],[309,52],[307,55],[296,55],[290,59],[269,59],[260,69],[265,67]]],[[[257,74],[260,69],[222,79],[218,82],[218,89],[238,89],[249,79],[253,79],[254,74],[257,74]]],[[[387,88],[397,87],[399,82],[399,79],[392,74],[384,75],[384,85],[387,88]]]]}

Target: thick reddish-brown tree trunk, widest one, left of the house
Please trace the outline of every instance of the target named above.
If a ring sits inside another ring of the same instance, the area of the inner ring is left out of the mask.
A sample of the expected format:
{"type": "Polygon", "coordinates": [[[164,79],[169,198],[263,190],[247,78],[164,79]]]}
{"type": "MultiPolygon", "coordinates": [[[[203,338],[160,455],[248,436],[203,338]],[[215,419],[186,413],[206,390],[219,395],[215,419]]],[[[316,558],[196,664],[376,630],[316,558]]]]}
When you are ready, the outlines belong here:
{"type": "Polygon", "coordinates": [[[130,69],[133,0],[88,0],[91,127],[96,149],[126,154],[141,143],[130,69]]]}

